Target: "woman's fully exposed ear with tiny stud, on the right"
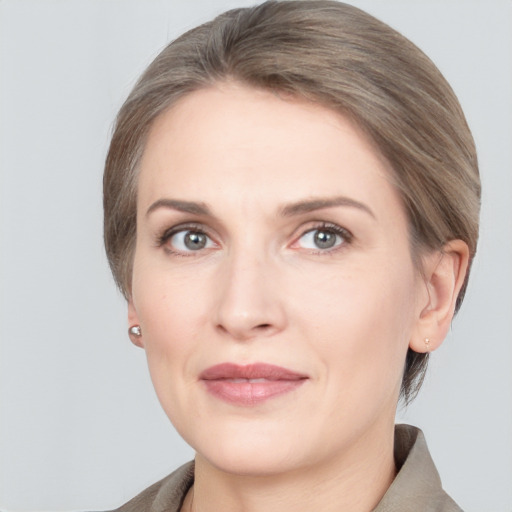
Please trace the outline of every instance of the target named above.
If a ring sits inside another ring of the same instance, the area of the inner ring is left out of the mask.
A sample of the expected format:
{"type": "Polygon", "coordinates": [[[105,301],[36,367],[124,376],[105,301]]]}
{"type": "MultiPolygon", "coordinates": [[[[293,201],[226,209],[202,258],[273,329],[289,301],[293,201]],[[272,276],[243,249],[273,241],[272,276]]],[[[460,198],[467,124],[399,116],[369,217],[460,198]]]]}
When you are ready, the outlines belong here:
{"type": "Polygon", "coordinates": [[[452,240],[423,259],[425,290],[409,342],[415,352],[430,352],[444,341],[468,264],[469,249],[462,240],[452,240]]]}

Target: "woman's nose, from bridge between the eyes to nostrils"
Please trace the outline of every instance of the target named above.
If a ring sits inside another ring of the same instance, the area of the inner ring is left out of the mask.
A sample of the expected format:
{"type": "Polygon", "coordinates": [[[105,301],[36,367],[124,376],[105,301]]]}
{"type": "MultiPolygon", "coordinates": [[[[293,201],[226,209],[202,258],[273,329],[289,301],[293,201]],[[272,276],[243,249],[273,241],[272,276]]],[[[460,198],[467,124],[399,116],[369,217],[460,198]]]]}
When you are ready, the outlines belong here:
{"type": "Polygon", "coordinates": [[[279,282],[272,257],[232,254],[218,274],[217,330],[239,341],[281,332],[286,315],[279,282]]]}

